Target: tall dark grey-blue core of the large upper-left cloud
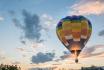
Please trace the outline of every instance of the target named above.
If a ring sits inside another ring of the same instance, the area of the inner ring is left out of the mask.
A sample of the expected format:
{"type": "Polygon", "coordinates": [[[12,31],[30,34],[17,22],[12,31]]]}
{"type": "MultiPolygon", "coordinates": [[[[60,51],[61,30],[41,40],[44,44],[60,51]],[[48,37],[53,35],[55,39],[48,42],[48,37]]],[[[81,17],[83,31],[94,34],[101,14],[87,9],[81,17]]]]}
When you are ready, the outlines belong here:
{"type": "Polygon", "coordinates": [[[22,12],[24,16],[24,34],[25,38],[29,40],[34,40],[37,42],[40,42],[40,37],[41,37],[41,25],[40,25],[40,20],[38,15],[34,14],[31,15],[28,13],[26,10],[23,10],[22,12]]]}

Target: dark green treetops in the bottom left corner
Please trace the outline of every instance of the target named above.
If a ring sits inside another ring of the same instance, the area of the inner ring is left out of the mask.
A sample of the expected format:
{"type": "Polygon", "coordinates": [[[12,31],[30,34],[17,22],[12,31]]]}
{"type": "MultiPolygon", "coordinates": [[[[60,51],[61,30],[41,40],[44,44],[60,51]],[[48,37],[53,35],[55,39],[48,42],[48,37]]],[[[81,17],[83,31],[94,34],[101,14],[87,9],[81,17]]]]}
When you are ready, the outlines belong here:
{"type": "Polygon", "coordinates": [[[0,70],[21,70],[17,65],[0,65],[0,70]]]}

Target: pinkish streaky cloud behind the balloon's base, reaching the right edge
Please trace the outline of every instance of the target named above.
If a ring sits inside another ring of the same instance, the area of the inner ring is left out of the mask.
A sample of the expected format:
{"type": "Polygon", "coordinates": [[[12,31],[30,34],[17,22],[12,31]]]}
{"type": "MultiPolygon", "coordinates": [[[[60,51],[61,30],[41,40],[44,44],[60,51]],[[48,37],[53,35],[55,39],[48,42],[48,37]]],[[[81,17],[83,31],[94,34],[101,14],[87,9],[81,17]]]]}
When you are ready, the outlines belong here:
{"type": "MultiPolygon", "coordinates": [[[[91,47],[85,47],[82,52],[80,53],[79,57],[81,58],[88,58],[92,56],[99,56],[104,54],[104,45],[96,45],[91,47]]],[[[63,52],[64,55],[60,56],[61,59],[71,58],[72,55],[70,52],[65,51],[63,52]],[[67,53],[66,53],[67,52],[67,53]]]]}

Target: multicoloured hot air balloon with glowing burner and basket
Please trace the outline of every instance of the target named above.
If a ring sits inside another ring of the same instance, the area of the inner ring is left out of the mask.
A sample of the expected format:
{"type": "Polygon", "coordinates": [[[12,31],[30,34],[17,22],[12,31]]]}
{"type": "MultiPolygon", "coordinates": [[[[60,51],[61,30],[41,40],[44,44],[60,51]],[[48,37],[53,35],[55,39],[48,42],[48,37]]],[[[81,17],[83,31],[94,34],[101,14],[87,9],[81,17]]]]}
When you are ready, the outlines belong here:
{"type": "Polygon", "coordinates": [[[89,40],[91,32],[91,22],[80,15],[66,16],[56,26],[56,34],[59,40],[75,55],[76,63],[78,63],[78,56],[89,40]]]}

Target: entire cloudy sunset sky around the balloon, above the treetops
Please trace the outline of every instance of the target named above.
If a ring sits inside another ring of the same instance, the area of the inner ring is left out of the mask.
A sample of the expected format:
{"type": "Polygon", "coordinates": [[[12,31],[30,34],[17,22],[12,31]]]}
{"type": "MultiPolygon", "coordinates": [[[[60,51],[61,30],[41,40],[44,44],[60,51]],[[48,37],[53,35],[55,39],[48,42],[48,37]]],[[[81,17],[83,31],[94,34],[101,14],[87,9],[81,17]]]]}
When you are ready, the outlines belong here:
{"type": "Polygon", "coordinates": [[[104,65],[103,0],[0,0],[0,63],[74,62],[56,35],[60,19],[71,15],[83,15],[92,23],[80,63],[104,65]]]}

